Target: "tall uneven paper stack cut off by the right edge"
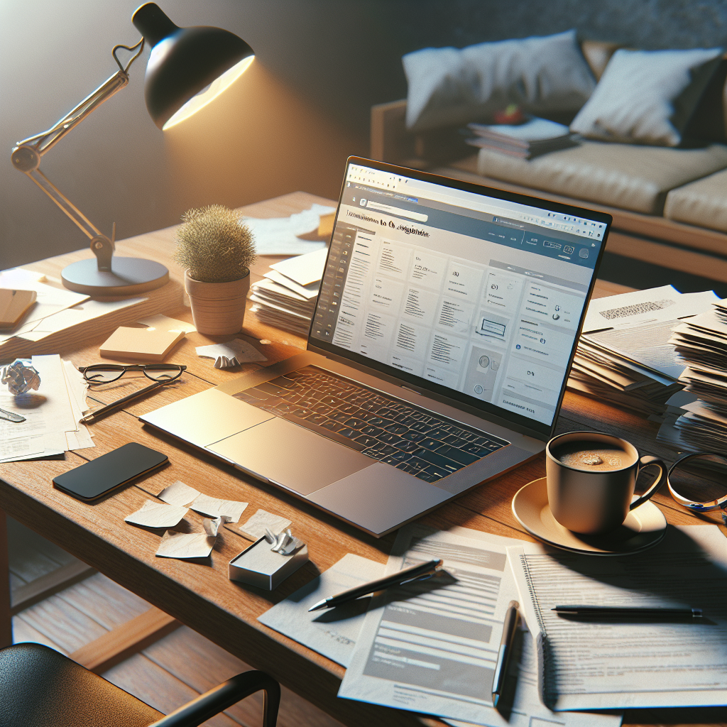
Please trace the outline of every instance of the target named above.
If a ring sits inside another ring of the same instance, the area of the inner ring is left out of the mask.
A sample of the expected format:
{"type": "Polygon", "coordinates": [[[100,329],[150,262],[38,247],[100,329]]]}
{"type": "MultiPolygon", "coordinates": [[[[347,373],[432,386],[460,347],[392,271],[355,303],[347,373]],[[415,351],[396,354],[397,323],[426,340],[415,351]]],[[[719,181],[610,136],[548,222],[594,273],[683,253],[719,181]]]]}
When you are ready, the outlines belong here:
{"type": "Polygon", "coordinates": [[[670,438],[665,427],[659,435],[685,449],[721,451],[727,436],[727,300],[677,326],[670,342],[686,364],[679,380],[691,396],[679,403],[676,436],[670,438]]]}

